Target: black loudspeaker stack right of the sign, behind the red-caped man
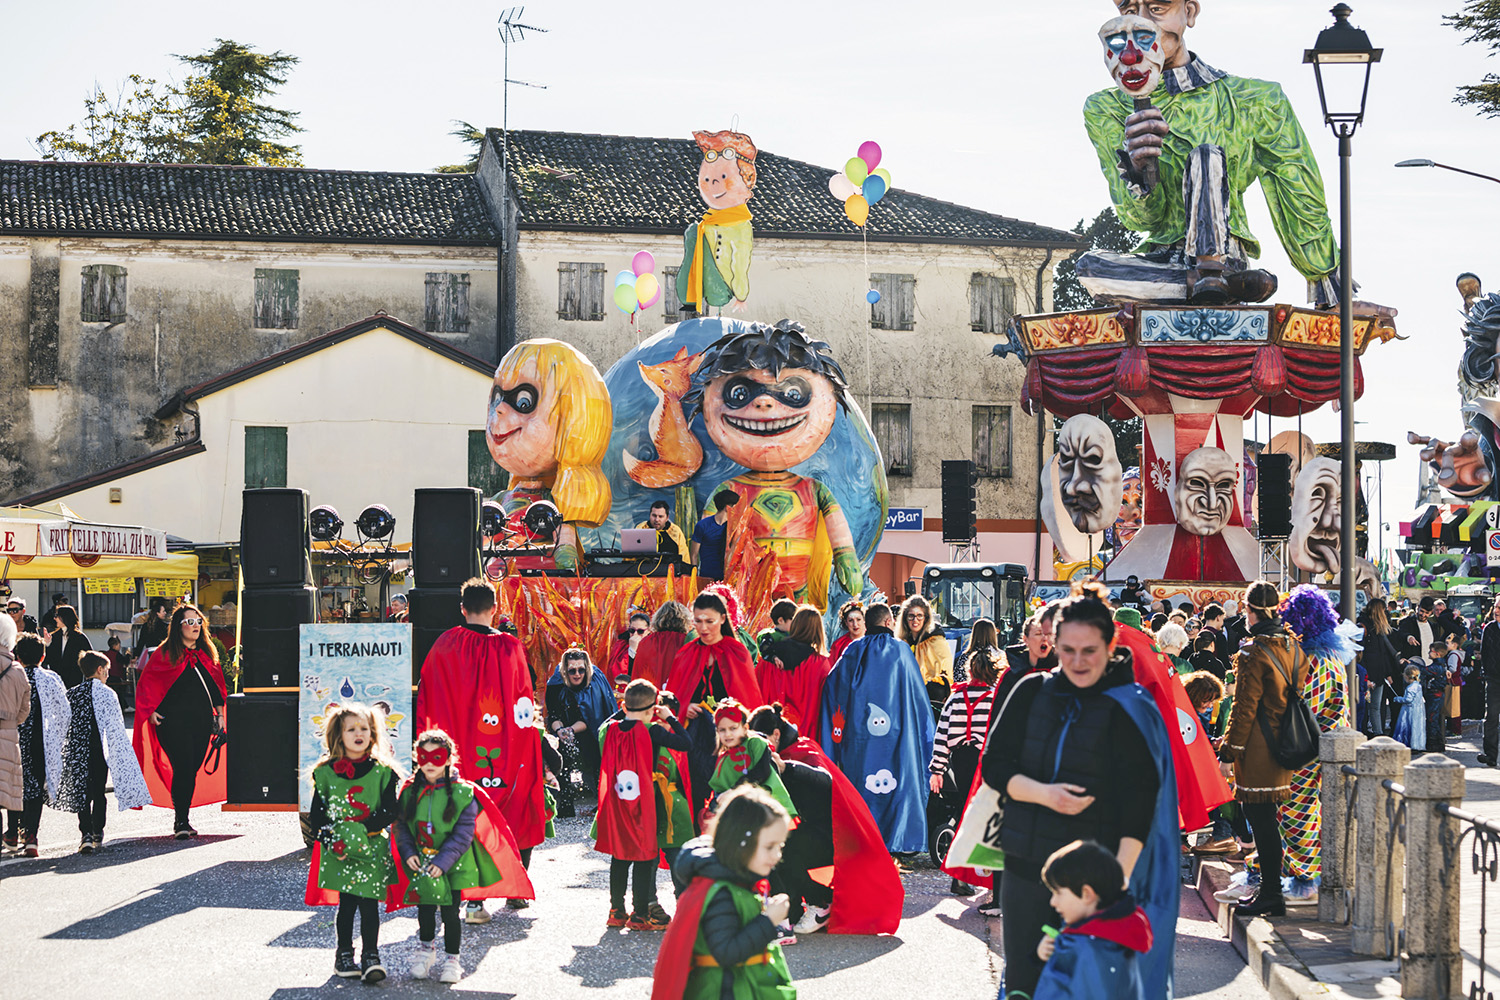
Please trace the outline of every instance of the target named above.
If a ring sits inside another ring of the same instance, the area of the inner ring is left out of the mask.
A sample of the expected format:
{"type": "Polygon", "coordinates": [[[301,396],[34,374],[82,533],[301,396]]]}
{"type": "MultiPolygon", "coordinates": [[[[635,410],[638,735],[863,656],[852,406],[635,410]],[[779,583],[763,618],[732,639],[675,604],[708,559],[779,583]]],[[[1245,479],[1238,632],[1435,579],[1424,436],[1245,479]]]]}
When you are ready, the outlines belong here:
{"type": "Polygon", "coordinates": [[[417,490],[411,508],[411,682],[438,636],[464,624],[459,591],[480,574],[476,489],[417,490]]]}

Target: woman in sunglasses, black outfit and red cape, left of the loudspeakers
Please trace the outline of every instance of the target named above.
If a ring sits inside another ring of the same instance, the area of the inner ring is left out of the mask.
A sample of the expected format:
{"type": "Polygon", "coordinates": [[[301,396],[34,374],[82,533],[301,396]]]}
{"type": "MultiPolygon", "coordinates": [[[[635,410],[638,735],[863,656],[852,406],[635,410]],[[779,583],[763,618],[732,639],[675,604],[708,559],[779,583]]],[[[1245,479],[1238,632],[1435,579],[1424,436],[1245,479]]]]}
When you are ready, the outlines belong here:
{"type": "Polygon", "coordinates": [[[166,642],[147,654],[135,688],[135,756],[152,802],[166,805],[170,798],[177,840],[198,835],[188,823],[190,807],[224,802],[224,772],[204,772],[201,783],[200,772],[225,694],[202,612],[183,604],[172,612],[166,642]]]}

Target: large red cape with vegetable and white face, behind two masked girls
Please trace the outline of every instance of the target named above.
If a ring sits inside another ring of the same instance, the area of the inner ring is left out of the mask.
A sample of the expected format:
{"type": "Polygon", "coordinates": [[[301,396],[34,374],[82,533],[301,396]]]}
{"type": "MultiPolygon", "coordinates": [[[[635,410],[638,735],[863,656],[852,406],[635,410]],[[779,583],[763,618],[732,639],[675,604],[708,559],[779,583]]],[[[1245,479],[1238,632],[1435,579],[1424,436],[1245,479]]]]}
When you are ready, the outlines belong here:
{"type": "Polygon", "coordinates": [[[432,645],[422,666],[417,727],[441,729],[459,745],[459,775],[500,807],[516,843],[546,835],[542,741],[520,640],[459,625],[432,645]]]}

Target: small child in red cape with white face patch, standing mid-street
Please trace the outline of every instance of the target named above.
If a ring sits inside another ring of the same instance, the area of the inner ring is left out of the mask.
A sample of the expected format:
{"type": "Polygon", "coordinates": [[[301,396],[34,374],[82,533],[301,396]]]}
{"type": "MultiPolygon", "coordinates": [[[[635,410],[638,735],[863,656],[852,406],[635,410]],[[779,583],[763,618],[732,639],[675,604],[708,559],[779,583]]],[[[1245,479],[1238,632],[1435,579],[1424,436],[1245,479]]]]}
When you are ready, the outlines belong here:
{"type": "Polygon", "coordinates": [[[609,918],[606,927],[662,931],[670,919],[656,897],[656,868],[662,853],[652,780],[657,753],[687,750],[687,736],[670,712],[657,703],[656,685],[632,681],[626,687],[624,718],[610,718],[598,735],[598,814],[594,850],[609,855],[609,918]],[[676,732],[657,720],[672,721],[676,732]],[[634,880],[634,912],[626,916],[626,883],[634,880]]]}

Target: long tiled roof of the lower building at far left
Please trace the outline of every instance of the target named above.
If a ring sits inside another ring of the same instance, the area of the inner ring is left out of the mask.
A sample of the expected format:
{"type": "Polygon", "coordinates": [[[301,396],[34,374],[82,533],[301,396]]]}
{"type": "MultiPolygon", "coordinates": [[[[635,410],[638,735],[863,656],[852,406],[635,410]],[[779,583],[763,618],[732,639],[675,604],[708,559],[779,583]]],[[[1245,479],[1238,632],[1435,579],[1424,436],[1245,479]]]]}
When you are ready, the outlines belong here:
{"type": "Polygon", "coordinates": [[[0,160],[0,234],[500,243],[472,174],[0,160]]]}

